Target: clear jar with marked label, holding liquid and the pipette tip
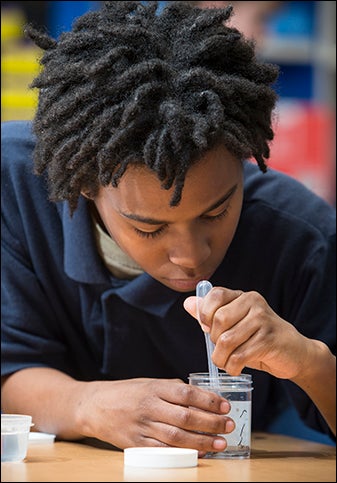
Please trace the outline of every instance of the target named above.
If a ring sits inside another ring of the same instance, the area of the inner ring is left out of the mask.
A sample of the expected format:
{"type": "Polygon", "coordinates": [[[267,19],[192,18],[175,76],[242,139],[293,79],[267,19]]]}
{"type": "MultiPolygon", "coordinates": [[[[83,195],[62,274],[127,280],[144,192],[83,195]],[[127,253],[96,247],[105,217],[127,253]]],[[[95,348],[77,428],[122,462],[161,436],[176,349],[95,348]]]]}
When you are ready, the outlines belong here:
{"type": "Polygon", "coordinates": [[[227,447],[224,451],[209,452],[205,458],[234,459],[249,458],[251,448],[251,409],[252,409],[252,376],[240,374],[231,376],[219,373],[211,377],[208,372],[191,373],[189,383],[207,391],[215,392],[227,399],[231,405],[228,416],[235,422],[231,433],[222,434],[227,447]]]}

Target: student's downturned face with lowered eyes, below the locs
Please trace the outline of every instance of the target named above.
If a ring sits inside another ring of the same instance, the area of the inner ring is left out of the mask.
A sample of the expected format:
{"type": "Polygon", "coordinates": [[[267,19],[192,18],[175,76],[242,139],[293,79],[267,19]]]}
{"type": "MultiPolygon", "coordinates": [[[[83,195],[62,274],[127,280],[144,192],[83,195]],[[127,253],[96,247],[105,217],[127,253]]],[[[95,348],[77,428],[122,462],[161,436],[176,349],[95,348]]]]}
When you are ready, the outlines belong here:
{"type": "Polygon", "coordinates": [[[233,239],[242,165],[217,147],[189,170],[175,207],[169,205],[172,192],[146,167],[130,167],[118,187],[100,188],[94,202],[107,231],[145,272],[189,292],[211,277],[233,239]]]}

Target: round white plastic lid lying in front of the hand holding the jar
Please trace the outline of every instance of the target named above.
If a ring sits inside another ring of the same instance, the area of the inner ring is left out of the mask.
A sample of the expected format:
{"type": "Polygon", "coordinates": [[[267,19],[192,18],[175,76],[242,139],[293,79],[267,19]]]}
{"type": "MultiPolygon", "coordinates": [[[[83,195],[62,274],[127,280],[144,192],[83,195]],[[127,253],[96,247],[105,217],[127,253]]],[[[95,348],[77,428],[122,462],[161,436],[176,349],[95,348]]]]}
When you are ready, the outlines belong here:
{"type": "Polygon", "coordinates": [[[124,465],[142,468],[189,468],[198,465],[198,451],[187,448],[125,448],[124,465]]]}

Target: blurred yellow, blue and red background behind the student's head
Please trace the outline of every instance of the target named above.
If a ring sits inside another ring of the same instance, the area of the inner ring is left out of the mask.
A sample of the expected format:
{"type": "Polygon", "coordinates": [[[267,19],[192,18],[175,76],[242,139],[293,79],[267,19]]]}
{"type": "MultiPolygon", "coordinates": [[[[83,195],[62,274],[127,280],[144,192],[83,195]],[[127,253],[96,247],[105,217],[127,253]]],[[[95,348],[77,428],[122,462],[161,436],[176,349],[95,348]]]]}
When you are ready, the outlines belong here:
{"type": "MultiPolygon", "coordinates": [[[[160,7],[168,2],[159,2],[160,7]]],[[[336,202],[336,2],[190,2],[202,8],[231,3],[232,24],[256,40],[264,60],[281,75],[275,140],[269,165],[336,202]]],[[[40,52],[23,37],[29,22],[54,38],[99,1],[1,2],[1,120],[31,119],[40,52]]]]}

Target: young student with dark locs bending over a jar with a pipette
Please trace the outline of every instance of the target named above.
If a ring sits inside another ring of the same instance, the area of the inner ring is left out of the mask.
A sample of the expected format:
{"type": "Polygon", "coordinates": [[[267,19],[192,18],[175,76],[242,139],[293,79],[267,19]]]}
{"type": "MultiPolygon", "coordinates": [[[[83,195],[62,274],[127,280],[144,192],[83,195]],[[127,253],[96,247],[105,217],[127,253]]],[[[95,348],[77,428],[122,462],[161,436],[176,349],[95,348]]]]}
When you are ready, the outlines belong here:
{"type": "MultiPolygon", "coordinates": [[[[231,8],[105,2],[45,50],[32,123],[2,126],[2,411],[117,448],[226,447],[288,404],[335,435],[335,210],[267,168],[276,66],[231,8]],[[223,437],[217,433],[224,434],[223,437]]],[[[301,133],[298,133],[300,136],[301,133]]]]}

